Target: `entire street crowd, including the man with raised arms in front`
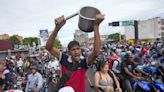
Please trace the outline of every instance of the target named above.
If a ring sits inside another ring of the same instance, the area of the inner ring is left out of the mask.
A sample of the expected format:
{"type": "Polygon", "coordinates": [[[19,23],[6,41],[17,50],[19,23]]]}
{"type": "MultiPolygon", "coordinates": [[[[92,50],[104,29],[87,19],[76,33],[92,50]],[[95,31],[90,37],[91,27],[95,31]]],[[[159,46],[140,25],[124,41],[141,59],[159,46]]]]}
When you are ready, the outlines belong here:
{"type": "MultiPolygon", "coordinates": [[[[132,82],[151,76],[138,68],[139,65],[163,67],[164,43],[159,40],[136,44],[118,41],[102,45],[99,25],[104,16],[101,14],[94,22],[92,48],[71,41],[67,51],[59,50],[53,47],[53,43],[66,21],[64,16],[57,20],[45,49],[31,55],[18,53],[1,60],[0,91],[86,92],[86,71],[94,68],[94,82],[89,83],[95,92],[137,92],[137,83],[132,85],[132,82]]],[[[162,77],[161,80],[164,81],[162,77]]]]}

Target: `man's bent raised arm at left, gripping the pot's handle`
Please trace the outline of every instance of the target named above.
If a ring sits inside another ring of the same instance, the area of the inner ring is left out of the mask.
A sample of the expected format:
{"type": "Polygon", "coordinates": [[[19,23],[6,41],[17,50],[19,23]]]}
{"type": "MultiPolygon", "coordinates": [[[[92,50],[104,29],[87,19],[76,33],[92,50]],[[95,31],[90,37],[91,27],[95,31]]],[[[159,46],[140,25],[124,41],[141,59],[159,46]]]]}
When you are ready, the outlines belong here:
{"type": "Polygon", "coordinates": [[[65,24],[65,20],[64,20],[64,16],[61,16],[59,18],[56,19],[58,22],[56,23],[56,27],[54,28],[52,34],[50,35],[50,37],[47,40],[46,43],[46,49],[55,57],[59,58],[60,56],[60,51],[53,47],[53,44],[55,42],[55,38],[59,32],[59,30],[61,29],[61,27],[65,24]]]}

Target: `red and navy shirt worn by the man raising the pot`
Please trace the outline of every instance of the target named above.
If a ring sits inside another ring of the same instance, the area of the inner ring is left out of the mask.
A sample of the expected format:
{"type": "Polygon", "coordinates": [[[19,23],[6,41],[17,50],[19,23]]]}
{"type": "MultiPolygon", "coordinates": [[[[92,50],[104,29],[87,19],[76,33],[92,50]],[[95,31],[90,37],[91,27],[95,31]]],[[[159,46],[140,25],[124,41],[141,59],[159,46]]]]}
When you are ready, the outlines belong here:
{"type": "MultiPolygon", "coordinates": [[[[62,75],[67,73],[71,69],[73,64],[70,62],[71,59],[66,54],[62,54],[61,65],[62,65],[62,75]]],[[[85,82],[85,72],[87,69],[86,59],[81,59],[80,67],[77,70],[72,71],[70,79],[64,84],[65,86],[71,86],[75,92],[86,92],[86,82],[85,82]]]]}

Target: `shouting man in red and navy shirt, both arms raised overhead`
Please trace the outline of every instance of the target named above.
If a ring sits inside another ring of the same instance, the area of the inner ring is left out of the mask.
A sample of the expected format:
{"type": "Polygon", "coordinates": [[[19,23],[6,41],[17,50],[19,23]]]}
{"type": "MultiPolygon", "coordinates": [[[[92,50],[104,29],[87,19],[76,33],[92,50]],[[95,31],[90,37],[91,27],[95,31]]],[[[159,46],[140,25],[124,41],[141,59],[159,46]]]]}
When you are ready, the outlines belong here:
{"type": "MultiPolygon", "coordinates": [[[[62,78],[59,82],[59,87],[57,90],[53,92],[57,92],[58,90],[61,92],[59,88],[68,88],[71,87],[74,92],[86,92],[86,83],[85,83],[85,72],[88,66],[93,64],[93,61],[100,53],[101,41],[99,34],[99,25],[104,20],[104,15],[98,14],[96,15],[94,24],[93,24],[93,32],[94,32],[94,44],[93,44],[93,52],[89,55],[88,58],[80,58],[81,56],[81,47],[77,41],[71,41],[68,44],[69,55],[66,55],[57,48],[53,47],[53,43],[55,38],[62,28],[62,26],[66,23],[64,16],[61,16],[56,19],[58,22],[56,23],[56,27],[50,37],[48,38],[46,49],[55,57],[59,59],[60,64],[62,65],[62,78]],[[64,81],[63,81],[64,80],[64,81]]],[[[68,90],[67,90],[68,91],[68,90]]]]}

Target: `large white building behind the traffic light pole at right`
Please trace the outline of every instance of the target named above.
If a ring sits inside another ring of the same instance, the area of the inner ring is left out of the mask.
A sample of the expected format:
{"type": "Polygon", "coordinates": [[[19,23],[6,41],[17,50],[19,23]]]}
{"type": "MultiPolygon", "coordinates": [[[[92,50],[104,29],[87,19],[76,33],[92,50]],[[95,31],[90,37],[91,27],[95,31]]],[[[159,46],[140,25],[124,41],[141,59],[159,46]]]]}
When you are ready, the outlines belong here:
{"type": "MultiPolygon", "coordinates": [[[[164,19],[159,17],[138,21],[138,39],[162,38],[164,34],[164,19]]],[[[126,40],[134,39],[134,27],[125,27],[126,40]]]]}

